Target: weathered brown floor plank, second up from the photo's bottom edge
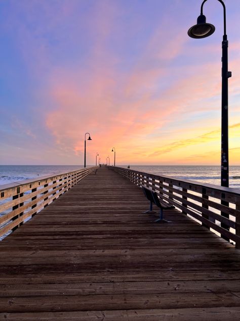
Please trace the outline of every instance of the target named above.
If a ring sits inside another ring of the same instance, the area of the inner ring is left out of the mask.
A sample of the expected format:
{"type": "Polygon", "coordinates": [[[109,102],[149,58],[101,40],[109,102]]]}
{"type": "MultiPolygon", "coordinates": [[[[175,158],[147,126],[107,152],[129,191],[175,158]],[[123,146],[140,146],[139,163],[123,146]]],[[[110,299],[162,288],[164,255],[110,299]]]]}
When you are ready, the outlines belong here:
{"type": "Polygon", "coordinates": [[[2,297],[3,312],[91,311],[129,309],[176,309],[202,307],[239,307],[240,293],[177,293],[138,295],[75,295],[35,297],[2,297]]]}

